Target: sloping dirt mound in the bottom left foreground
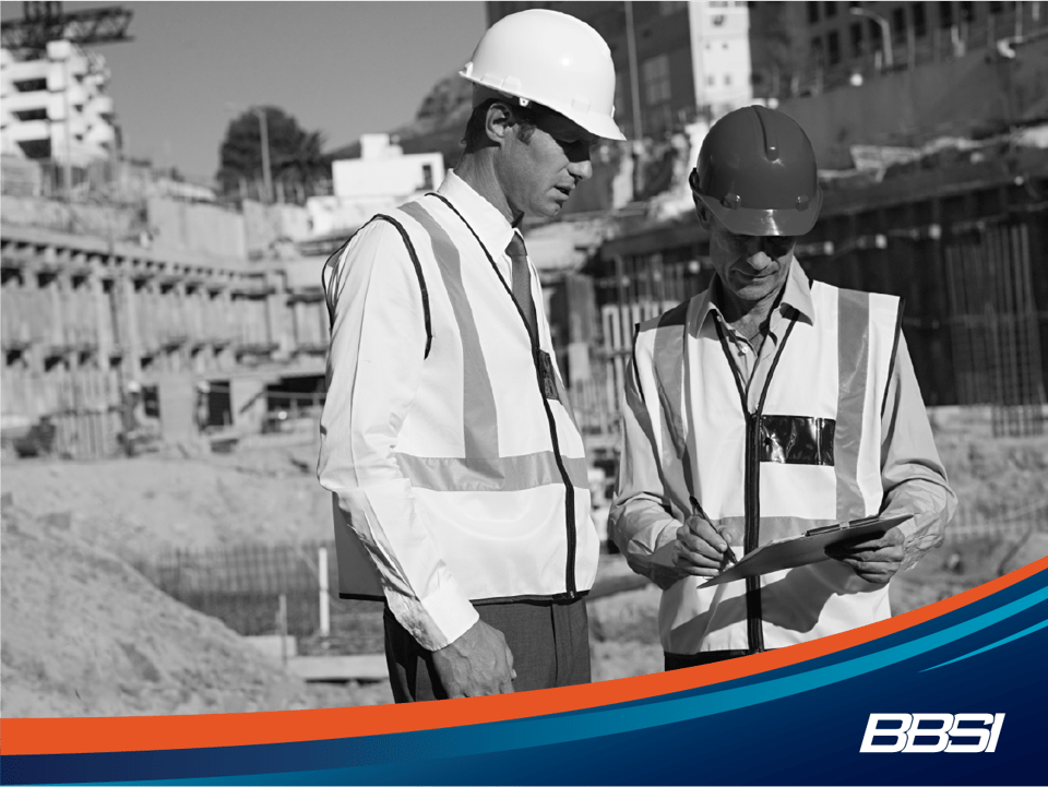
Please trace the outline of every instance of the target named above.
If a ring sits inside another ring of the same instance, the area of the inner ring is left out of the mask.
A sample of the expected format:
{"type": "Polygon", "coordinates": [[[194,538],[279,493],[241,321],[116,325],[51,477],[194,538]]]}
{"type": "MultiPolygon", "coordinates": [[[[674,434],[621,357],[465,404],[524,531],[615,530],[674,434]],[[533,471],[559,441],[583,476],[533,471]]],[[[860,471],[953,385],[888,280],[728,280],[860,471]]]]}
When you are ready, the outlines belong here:
{"type": "Polygon", "coordinates": [[[4,511],[3,716],[238,713],[389,702],[307,687],[214,618],[74,534],[4,511]]]}

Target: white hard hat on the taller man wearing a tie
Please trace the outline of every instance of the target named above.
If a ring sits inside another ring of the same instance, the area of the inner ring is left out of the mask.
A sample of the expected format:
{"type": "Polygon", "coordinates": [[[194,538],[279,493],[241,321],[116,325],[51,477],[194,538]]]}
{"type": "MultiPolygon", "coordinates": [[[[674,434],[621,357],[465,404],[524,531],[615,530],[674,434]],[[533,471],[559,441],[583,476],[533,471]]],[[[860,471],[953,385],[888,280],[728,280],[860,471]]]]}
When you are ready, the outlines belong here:
{"type": "Polygon", "coordinates": [[[582,20],[546,9],[503,16],[458,72],[474,84],[537,102],[586,131],[624,140],[615,124],[615,63],[600,34],[582,20]]]}

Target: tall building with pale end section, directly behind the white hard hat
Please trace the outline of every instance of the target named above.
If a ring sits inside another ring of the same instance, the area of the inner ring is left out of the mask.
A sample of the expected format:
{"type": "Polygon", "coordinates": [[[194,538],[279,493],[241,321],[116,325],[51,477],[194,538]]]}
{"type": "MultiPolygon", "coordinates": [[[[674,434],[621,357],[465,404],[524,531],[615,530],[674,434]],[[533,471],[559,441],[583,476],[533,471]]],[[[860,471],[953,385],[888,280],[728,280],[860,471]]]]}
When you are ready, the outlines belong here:
{"type": "Polygon", "coordinates": [[[615,61],[615,117],[630,139],[663,136],[752,99],[745,2],[490,0],[486,8],[489,25],[527,8],[548,8],[599,32],[615,61]]]}

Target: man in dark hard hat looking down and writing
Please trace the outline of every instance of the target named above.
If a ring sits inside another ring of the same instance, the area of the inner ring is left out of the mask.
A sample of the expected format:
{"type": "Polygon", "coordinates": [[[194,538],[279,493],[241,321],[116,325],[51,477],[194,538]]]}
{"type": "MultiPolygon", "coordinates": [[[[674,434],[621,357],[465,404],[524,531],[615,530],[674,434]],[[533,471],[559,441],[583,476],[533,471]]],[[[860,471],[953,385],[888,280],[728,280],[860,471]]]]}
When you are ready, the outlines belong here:
{"type": "Polygon", "coordinates": [[[942,542],[956,508],[900,299],[809,282],[794,258],[822,205],[800,126],[726,115],[690,182],[715,275],[638,329],[609,521],[663,589],[667,669],[890,617],[889,581],[942,542]],[[878,514],[908,517],[829,560],[699,588],[770,541],[878,514]]]}

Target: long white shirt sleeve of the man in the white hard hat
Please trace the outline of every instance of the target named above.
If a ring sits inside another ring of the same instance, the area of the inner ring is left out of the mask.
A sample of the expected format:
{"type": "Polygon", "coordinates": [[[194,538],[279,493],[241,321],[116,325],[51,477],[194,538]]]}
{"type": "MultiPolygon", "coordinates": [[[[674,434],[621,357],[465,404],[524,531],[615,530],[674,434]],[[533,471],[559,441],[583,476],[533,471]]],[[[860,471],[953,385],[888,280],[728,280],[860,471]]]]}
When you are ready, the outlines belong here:
{"type": "Polygon", "coordinates": [[[318,478],[370,555],[394,617],[434,651],[477,612],[394,456],[426,351],[418,278],[404,240],[381,220],[357,232],[324,278],[333,323],[318,478]]]}

